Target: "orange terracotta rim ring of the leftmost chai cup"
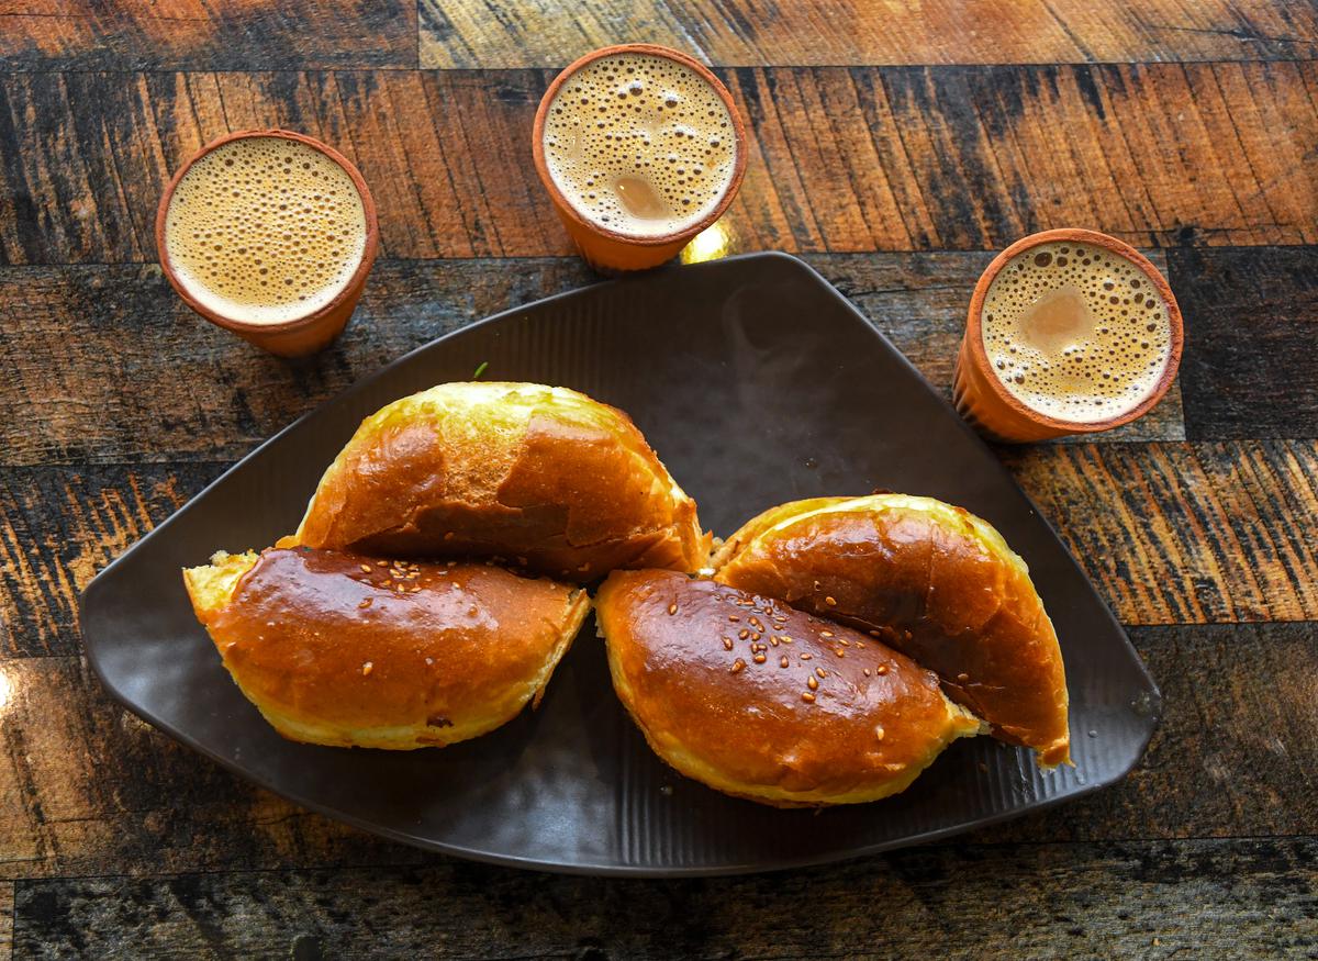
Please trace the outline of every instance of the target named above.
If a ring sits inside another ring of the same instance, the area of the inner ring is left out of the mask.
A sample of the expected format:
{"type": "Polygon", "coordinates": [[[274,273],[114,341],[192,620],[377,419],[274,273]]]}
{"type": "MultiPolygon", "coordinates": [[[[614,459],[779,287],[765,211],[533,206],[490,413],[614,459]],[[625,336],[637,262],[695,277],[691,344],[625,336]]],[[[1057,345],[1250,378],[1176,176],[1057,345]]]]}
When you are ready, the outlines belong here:
{"type": "Polygon", "coordinates": [[[212,140],[210,144],[203,146],[200,150],[194,153],[187,161],[183,162],[170,178],[169,185],[165,187],[165,192],[161,194],[159,204],[156,207],[156,249],[159,254],[161,270],[165,278],[174,287],[174,291],[191,307],[194,311],[200,314],[203,318],[211,323],[223,327],[235,334],[261,334],[261,335],[277,335],[277,334],[290,334],[294,331],[301,331],[306,327],[312,327],[316,323],[324,320],[327,316],[337,311],[345,301],[357,295],[361,283],[365,281],[366,274],[370,272],[372,265],[376,261],[376,253],[380,245],[380,224],[376,216],[376,200],[370,195],[370,187],[366,186],[365,178],[362,178],[361,171],[357,166],[344,157],[341,153],[335,150],[328,144],[324,144],[315,137],[308,137],[304,133],[298,133],[297,131],[285,131],[282,128],[270,129],[250,129],[250,131],[233,131],[232,133],[225,133],[223,137],[212,140]],[[231,144],[235,140],[248,140],[248,138],[279,138],[279,140],[293,140],[312,150],[316,150],[331,161],[337,163],[344,173],[352,179],[353,186],[357,189],[357,195],[361,198],[362,212],[366,219],[366,243],[361,250],[361,260],[357,264],[357,269],[352,272],[352,277],[343,289],[333,295],[327,303],[322,305],[316,310],[303,316],[291,318],[289,320],[275,320],[269,323],[260,323],[252,320],[239,320],[236,318],[225,316],[216,310],[206,306],[183,285],[178,278],[178,273],[174,269],[174,264],[169,256],[169,248],[165,244],[165,220],[169,214],[170,202],[174,198],[174,190],[182,182],[187,171],[192,169],[192,165],[199,160],[210,154],[212,150],[231,144]]]}

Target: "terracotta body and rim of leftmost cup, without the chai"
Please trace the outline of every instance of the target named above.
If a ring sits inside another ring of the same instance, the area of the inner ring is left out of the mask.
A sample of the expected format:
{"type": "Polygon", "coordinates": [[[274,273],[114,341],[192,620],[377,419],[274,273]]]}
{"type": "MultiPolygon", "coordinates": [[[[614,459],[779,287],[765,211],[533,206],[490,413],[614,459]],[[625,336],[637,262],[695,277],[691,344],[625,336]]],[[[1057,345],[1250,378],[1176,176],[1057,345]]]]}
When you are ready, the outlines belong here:
{"type": "Polygon", "coordinates": [[[361,291],[366,286],[366,274],[370,273],[370,265],[376,261],[376,249],[378,245],[380,225],[376,223],[376,202],[370,196],[370,189],[366,187],[366,182],[361,178],[361,171],[357,170],[352,161],[335,150],[332,146],[291,131],[239,131],[207,144],[178,169],[178,173],[174,174],[169,186],[165,187],[165,194],[161,196],[159,207],[156,208],[156,248],[159,250],[161,269],[165,272],[165,277],[169,278],[174,290],[178,291],[178,295],[183,298],[188,307],[204,316],[212,324],[223,327],[227,331],[232,331],[244,340],[248,340],[270,353],[279,355],[281,357],[301,357],[314,353],[330,344],[343,332],[344,326],[348,323],[348,318],[352,316],[352,311],[357,306],[357,301],[361,299],[361,291]],[[244,137],[281,137],[283,140],[295,140],[299,144],[306,144],[312,150],[319,150],[343,167],[348,177],[352,178],[353,186],[357,187],[357,194],[361,195],[361,206],[366,215],[366,244],[361,253],[361,262],[357,264],[357,269],[353,272],[347,286],[344,286],[344,289],[340,290],[339,294],[330,301],[330,303],[324,305],[312,314],[307,314],[306,316],[274,323],[252,323],[249,320],[237,320],[231,316],[224,316],[194,298],[179,281],[178,274],[174,272],[174,265],[170,264],[169,249],[165,245],[165,216],[169,212],[169,204],[174,196],[175,187],[178,187],[179,181],[183,179],[185,174],[187,174],[191,166],[202,157],[224,144],[244,137]]]}

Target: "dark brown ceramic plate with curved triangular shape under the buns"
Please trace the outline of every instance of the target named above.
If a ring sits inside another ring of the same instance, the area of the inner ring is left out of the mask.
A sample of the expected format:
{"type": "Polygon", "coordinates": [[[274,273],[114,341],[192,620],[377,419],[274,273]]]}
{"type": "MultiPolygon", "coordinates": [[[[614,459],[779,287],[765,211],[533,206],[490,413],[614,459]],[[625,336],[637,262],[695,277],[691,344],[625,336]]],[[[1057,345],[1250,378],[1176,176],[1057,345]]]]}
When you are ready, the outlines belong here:
{"type": "Polygon", "coordinates": [[[920,374],[836,290],[782,254],[668,269],[511,310],[436,340],[294,423],[142,538],[82,597],[87,653],[129,711],[229,770],[407,844],[589,874],[728,874],[944,837],[1120,779],[1159,693],[1048,523],[920,374]],[[192,618],[179,568],[291,531],[357,423],[468,380],[576,388],[629,411],[717,534],[782,501],[875,488],[998,526],[1061,637],[1074,769],[958,741],[902,795],[776,811],[687,780],[646,746],[588,622],[540,709],[443,750],[312,747],[244,700],[192,618]]]}

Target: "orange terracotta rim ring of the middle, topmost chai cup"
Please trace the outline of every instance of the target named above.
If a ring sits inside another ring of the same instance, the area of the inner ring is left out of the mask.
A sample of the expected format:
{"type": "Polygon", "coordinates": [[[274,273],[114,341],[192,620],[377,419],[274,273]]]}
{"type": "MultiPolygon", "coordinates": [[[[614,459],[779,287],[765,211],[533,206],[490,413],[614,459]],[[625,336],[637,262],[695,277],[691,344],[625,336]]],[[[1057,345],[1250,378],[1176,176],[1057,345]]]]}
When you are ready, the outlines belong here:
{"type": "Polygon", "coordinates": [[[697,61],[695,57],[691,57],[681,50],[673,50],[672,47],[660,46],[658,44],[613,44],[612,46],[602,46],[598,50],[592,50],[590,53],[579,57],[554,78],[548,90],[544,91],[544,96],[540,98],[540,105],[535,111],[535,124],[531,128],[531,150],[535,156],[535,173],[539,174],[540,182],[550,192],[555,206],[558,206],[558,208],[563,211],[565,216],[569,216],[579,227],[589,231],[590,233],[597,233],[622,244],[631,244],[634,247],[664,247],[677,240],[695,237],[697,233],[718,220],[718,218],[726,212],[728,207],[731,206],[731,202],[737,196],[737,191],[741,187],[742,178],[746,175],[746,121],[742,119],[741,111],[737,109],[737,104],[733,102],[733,95],[728,92],[728,87],[724,86],[722,80],[720,80],[713,71],[709,70],[709,67],[697,61]],[[662,57],[664,59],[681,63],[683,66],[696,71],[710,87],[713,87],[718,99],[724,102],[724,107],[728,108],[728,115],[733,121],[733,134],[737,140],[737,156],[733,161],[733,175],[728,181],[728,187],[724,190],[724,195],[720,198],[718,203],[714,204],[714,208],[691,227],[648,237],[638,237],[621,231],[614,231],[584,218],[581,212],[577,211],[577,208],[567,199],[567,196],[563,195],[563,191],[559,190],[559,186],[550,175],[550,167],[544,160],[544,117],[548,113],[550,104],[554,103],[555,98],[559,95],[559,90],[563,88],[563,84],[588,63],[593,63],[594,61],[605,57],[629,53],[662,57]]]}

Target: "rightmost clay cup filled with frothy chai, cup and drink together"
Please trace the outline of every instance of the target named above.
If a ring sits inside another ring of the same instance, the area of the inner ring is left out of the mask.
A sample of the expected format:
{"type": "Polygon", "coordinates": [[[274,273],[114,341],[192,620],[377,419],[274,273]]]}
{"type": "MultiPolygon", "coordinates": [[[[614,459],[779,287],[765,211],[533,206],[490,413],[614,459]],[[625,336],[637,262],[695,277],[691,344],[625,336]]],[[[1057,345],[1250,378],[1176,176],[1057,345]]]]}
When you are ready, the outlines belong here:
{"type": "Polygon", "coordinates": [[[975,286],[957,409],[999,440],[1110,430],[1162,398],[1182,337],[1170,287],[1137,250],[1094,231],[1036,233],[975,286]]]}

